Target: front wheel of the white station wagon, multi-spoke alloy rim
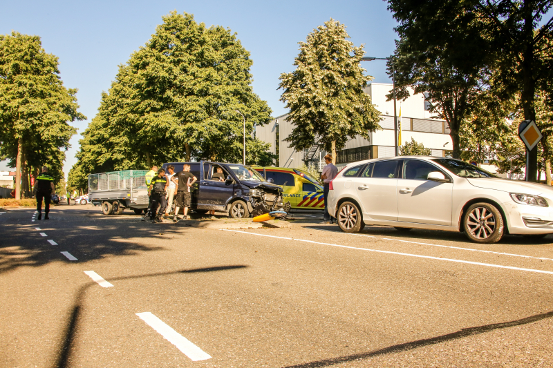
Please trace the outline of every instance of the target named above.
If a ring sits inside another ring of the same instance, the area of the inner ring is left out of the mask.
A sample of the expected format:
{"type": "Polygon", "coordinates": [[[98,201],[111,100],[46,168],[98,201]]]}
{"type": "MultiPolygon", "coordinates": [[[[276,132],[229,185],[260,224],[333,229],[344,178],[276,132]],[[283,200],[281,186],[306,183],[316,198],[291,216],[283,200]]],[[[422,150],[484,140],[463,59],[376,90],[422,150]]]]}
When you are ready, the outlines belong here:
{"type": "Polygon", "coordinates": [[[467,209],[463,227],[467,237],[476,243],[496,243],[503,238],[503,217],[493,204],[475,203],[467,209]]]}

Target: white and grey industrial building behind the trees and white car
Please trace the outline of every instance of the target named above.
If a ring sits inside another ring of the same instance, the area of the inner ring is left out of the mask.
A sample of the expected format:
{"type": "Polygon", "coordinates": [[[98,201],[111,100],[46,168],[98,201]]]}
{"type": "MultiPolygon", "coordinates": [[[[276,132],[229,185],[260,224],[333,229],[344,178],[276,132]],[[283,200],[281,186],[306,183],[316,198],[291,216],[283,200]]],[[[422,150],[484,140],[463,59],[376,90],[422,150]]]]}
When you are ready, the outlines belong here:
{"type": "MultiPolygon", "coordinates": [[[[371,95],[373,104],[382,114],[380,126],[382,130],[370,133],[369,139],[354,137],[348,140],[346,146],[337,152],[336,166],[345,166],[349,162],[378,157],[393,157],[394,149],[394,124],[393,101],[386,101],[386,94],[390,93],[392,84],[369,84],[365,92],[371,95]]],[[[413,95],[405,101],[397,101],[397,115],[402,113],[402,143],[411,142],[411,137],[416,142],[424,144],[431,149],[431,155],[445,157],[451,155],[451,137],[447,122],[440,119],[431,119],[427,103],[423,95],[413,95]]],[[[296,152],[288,146],[284,139],[292,133],[294,126],[286,119],[288,114],[281,115],[265,126],[257,126],[255,135],[261,141],[271,145],[270,151],[279,156],[277,166],[297,168],[301,164],[314,163],[319,166],[319,171],[324,166],[326,154],[318,145],[312,146],[303,152],[296,152]]]]}

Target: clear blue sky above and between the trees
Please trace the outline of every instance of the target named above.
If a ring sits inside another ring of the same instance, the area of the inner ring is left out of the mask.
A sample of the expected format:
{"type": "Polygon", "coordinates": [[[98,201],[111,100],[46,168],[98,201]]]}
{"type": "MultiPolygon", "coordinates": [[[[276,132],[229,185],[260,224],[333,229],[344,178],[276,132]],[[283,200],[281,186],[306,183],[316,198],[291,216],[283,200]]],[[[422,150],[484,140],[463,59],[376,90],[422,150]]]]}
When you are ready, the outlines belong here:
{"type": "MultiPolygon", "coordinates": [[[[79,111],[88,121],[73,125],[82,133],[95,116],[100,94],[109,90],[118,70],[146,43],[171,10],[194,14],[207,26],[238,34],[254,65],[254,92],[268,101],[272,116],[286,113],[277,90],[281,72],[294,69],[298,42],[333,18],[347,26],[355,46],[367,56],[386,57],[394,50],[395,21],[382,0],[342,1],[9,1],[2,6],[0,33],[16,30],[39,35],[46,52],[59,57],[67,88],[78,88],[79,111]]],[[[363,64],[374,81],[388,82],[384,61],[363,64]]],[[[75,164],[80,135],[71,139],[64,171],[75,164]]],[[[0,163],[0,170],[5,170],[0,163]]]]}

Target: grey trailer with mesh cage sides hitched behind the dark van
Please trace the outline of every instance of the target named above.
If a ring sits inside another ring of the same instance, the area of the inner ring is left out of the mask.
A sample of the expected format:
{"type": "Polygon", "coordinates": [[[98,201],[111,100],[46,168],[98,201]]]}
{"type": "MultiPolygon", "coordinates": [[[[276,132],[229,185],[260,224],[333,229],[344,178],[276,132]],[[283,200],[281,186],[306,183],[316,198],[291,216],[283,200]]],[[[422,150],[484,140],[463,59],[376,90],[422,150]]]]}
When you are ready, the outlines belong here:
{"type": "Polygon", "coordinates": [[[132,209],[137,215],[148,208],[147,170],[112,171],[88,175],[88,200],[102,206],[104,215],[121,215],[132,209]]]}

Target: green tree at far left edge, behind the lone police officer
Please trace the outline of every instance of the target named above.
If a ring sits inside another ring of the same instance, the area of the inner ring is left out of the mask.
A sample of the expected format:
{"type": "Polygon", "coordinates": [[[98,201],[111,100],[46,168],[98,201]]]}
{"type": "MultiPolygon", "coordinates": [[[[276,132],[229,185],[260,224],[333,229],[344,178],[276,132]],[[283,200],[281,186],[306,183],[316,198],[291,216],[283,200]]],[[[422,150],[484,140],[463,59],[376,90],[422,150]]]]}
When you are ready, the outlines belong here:
{"type": "Polygon", "coordinates": [[[76,93],[64,87],[57,57],[44,51],[40,37],[0,35],[0,156],[16,167],[17,199],[21,182],[28,193],[29,175],[41,165],[48,164],[56,180],[62,176],[60,150],[76,133],[68,122],[86,119],[77,112],[76,93]]]}

